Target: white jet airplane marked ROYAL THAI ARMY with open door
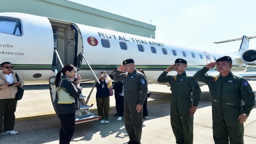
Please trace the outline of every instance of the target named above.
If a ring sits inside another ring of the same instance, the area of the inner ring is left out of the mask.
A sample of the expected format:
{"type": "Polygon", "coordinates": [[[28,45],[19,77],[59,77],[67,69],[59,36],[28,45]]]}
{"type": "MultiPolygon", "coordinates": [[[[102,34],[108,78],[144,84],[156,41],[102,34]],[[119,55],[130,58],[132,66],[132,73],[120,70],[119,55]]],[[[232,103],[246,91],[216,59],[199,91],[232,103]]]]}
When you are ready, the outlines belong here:
{"type": "MultiPolygon", "coordinates": [[[[95,73],[107,71],[109,74],[123,60],[132,58],[135,67],[145,71],[150,83],[159,84],[158,76],[177,58],[188,61],[186,72],[193,75],[206,64],[228,55],[233,60],[232,72],[255,76],[245,71],[249,66],[256,67],[256,50],[248,49],[249,40],[256,36],[228,40],[242,40],[237,52],[210,52],[64,20],[4,12],[0,13],[0,37],[0,61],[13,63],[13,70],[25,82],[49,80],[52,103],[56,92],[55,74],[66,64],[76,66],[82,79],[97,79],[95,73]]],[[[208,71],[216,72],[216,68],[208,71]]],[[[173,70],[169,74],[175,73],[173,70]]],[[[85,111],[76,116],[90,115],[88,121],[100,119],[89,112],[86,101],[81,98],[85,111]]],[[[78,119],[76,123],[84,121],[78,119]]]]}

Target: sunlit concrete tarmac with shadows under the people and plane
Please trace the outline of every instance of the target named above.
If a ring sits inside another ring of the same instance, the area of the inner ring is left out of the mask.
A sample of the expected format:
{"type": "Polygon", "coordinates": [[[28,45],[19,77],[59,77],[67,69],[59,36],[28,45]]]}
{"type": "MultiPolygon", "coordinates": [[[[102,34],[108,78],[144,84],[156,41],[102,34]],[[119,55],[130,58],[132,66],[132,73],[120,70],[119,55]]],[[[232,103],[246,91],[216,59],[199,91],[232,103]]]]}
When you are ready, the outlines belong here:
{"type": "MultiPolygon", "coordinates": [[[[249,81],[256,92],[256,81],[249,81]]],[[[83,84],[83,95],[87,96],[92,84],[83,84]]],[[[0,143],[8,144],[58,144],[60,120],[56,116],[48,84],[23,86],[23,99],[18,101],[15,112],[14,130],[17,135],[4,135],[0,143]]],[[[152,93],[148,99],[148,119],[144,119],[141,144],[174,144],[175,137],[170,124],[170,87],[160,84],[149,84],[152,93]]],[[[207,85],[201,87],[202,101],[194,115],[194,143],[213,144],[212,108],[207,85]]],[[[93,90],[88,105],[94,104],[90,111],[97,115],[96,88],[93,90]]],[[[115,97],[110,96],[109,123],[100,124],[92,121],[76,124],[75,133],[70,144],[122,144],[129,141],[124,127],[124,119],[117,121],[115,97]]],[[[256,107],[244,123],[244,143],[256,143],[256,107]]]]}

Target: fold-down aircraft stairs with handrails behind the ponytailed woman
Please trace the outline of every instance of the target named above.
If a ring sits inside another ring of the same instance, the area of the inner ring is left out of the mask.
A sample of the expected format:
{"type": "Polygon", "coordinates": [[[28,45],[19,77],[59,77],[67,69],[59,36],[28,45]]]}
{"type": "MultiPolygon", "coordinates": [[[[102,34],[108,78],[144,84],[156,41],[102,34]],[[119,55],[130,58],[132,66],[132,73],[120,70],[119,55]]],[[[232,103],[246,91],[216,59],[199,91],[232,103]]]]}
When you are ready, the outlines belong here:
{"type": "MultiPolygon", "coordinates": [[[[57,55],[57,58],[60,60],[59,54],[58,54],[58,52],[56,50],[55,50],[55,53],[57,55]]],[[[84,58],[84,55],[82,53],[80,53],[78,55],[78,57],[77,57],[77,63],[78,63],[77,70],[80,69],[83,58],[84,58]]],[[[85,61],[87,62],[86,59],[85,59],[85,61]]],[[[61,60],[60,60],[60,64],[61,64],[61,66],[63,68],[61,60]]],[[[87,62],[87,64],[91,68],[91,66],[89,65],[88,62],[87,62]]],[[[55,72],[55,76],[56,76],[56,74],[58,72],[57,69],[55,69],[54,72],[55,72]]],[[[92,73],[94,74],[93,71],[92,71],[92,73]]],[[[95,76],[95,79],[98,80],[98,78],[97,78],[97,76],[95,74],[94,74],[94,76],[95,76]]],[[[93,90],[95,84],[96,84],[96,82],[94,83],[94,85],[92,87],[92,90],[93,90]]],[[[56,87],[55,87],[55,77],[51,77],[50,78],[49,86],[50,86],[50,94],[51,94],[52,106],[53,106],[53,108],[55,110],[54,100],[55,100],[55,95],[56,95],[56,90],[57,90],[56,87]]],[[[76,121],[75,121],[76,124],[84,123],[84,122],[89,122],[89,121],[94,121],[94,120],[99,120],[99,119],[102,118],[101,116],[96,116],[96,115],[94,115],[93,113],[91,113],[89,111],[89,108],[91,108],[91,106],[88,106],[87,102],[89,101],[90,95],[92,94],[92,90],[91,90],[89,96],[87,97],[86,101],[84,100],[84,98],[86,98],[86,96],[83,96],[81,94],[80,97],[79,97],[79,107],[80,107],[80,109],[76,111],[76,121]]]]}

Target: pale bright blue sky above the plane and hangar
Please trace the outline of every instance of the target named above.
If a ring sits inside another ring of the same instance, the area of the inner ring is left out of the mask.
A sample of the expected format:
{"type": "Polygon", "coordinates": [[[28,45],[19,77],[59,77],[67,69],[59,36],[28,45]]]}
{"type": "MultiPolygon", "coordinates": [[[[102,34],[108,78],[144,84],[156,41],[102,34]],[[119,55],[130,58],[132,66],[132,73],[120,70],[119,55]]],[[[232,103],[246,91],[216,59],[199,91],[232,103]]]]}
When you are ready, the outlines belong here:
{"type": "MultiPolygon", "coordinates": [[[[255,0],[69,0],[156,26],[155,38],[204,51],[235,52],[241,41],[256,36],[255,0]],[[152,21],[150,21],[152,20],[152,21]]],[[[256,38],[249,49],[256,49],[256,38]]]]}

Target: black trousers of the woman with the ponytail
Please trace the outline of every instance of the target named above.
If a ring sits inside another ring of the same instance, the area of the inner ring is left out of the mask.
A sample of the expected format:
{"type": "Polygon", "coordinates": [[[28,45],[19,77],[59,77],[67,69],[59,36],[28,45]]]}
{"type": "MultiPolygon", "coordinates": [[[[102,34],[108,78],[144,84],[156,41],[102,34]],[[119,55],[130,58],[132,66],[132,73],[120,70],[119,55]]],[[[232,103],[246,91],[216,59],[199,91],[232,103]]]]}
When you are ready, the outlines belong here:
{"type": "Polygon", "coordinates": [[[75,113],[58,115],[61,123],[60,144],[69,144],[75,132],[75,113]]]}

